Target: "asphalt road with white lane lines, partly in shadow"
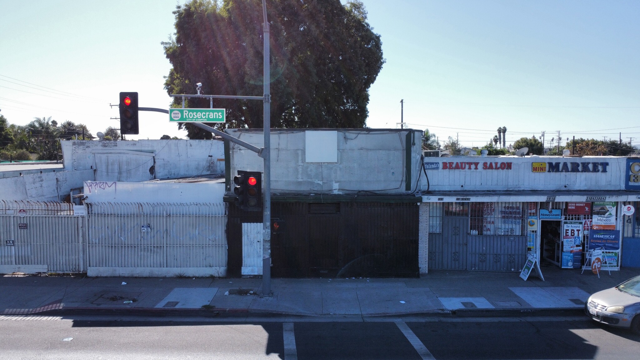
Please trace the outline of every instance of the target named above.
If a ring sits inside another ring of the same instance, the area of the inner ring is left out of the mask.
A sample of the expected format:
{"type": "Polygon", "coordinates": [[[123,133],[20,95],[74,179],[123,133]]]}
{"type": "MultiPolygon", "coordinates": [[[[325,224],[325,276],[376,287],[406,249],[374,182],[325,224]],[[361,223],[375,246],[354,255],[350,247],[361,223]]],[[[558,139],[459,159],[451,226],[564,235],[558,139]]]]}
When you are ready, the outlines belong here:
{"type": "Polygon", "coordinates": [[[193,320],[0,316],[0,359],[637,360],[640,354],[640,336],[582,317],[193,320]]]}

